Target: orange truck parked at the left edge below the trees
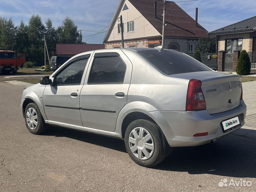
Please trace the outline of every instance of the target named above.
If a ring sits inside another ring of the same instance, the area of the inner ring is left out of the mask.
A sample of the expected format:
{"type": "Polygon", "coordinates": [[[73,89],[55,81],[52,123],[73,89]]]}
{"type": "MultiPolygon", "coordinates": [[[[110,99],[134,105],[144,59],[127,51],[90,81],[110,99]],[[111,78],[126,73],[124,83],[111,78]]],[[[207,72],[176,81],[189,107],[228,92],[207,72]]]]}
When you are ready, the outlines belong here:
{"type": "Polygon", "coordinates": [[[22,68],[25,62],[25,53],[16,55],[14,51],[0,50],[0,73],[17,74],[18,67],[22,68]]]}

